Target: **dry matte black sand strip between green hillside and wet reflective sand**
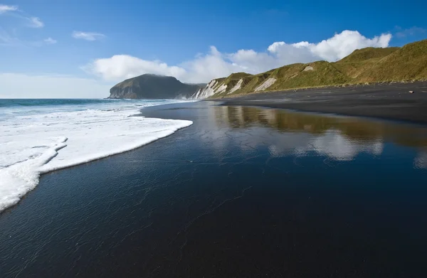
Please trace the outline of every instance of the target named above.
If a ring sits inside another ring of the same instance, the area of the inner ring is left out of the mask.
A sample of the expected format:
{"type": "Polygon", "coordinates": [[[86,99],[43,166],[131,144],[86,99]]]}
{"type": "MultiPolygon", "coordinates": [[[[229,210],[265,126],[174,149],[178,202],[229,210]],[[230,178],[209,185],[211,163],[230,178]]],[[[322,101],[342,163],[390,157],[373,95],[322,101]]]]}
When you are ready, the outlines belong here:
{"type": "Polygon", "coordinates": [[[268,92],[223,100],[225,105],[255,105],[427,122],[427,82],[268,92]],[[415,93],[410,94],[409,91],[415,93]]]}

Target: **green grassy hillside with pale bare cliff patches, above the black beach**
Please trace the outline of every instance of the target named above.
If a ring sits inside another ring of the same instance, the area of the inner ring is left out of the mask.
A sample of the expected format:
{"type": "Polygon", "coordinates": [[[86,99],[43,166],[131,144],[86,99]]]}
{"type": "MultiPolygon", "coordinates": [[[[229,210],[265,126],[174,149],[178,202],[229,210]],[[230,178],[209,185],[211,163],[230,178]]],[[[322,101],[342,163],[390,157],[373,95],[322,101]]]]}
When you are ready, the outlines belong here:
{"type": "Polygon", "coordinates": [[[335,63],[297,63],[250,75],[216,79],[211,97],[366,82],[427,80],[427,40],[402,48],[363,48],[335,63]]]}

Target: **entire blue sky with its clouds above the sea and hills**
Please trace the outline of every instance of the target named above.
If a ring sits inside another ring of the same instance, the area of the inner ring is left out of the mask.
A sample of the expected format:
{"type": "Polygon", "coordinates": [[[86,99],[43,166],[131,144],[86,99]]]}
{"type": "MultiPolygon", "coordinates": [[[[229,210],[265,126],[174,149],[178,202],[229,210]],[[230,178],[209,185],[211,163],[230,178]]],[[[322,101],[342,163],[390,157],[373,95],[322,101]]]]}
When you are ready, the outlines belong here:
{"type": "Polygon", "coordinates": [[[0,97],[105,97],[142,73],[209,82],[338,60],[427,38],[426,10],[426,1],[0,0],[0,97]],[[49,85],[64,79],[70,92],[49,85]]]}

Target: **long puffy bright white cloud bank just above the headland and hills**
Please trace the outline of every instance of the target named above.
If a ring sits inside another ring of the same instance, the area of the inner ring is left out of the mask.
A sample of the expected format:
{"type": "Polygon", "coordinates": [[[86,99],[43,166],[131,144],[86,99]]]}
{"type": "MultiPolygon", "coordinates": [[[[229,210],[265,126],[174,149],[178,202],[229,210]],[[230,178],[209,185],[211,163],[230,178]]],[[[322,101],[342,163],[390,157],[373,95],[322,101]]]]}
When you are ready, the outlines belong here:
{"type": "Polygon", "coordinates": [[[362,36],[358,31],[342,31],[320,43],[272,43],[264,52],[238,50],[221,53],[214,46],[206,55],[179,65],[167,65],[160,60],[143,60],[130,55],[114,55],[94,60],[84,67],[89,73],[110,81],[120,81],[144,73],[172,75],[183,82],[209,82],[231,73],[261,73],[291,63],[310,63],[315,60],[336,61],[358,48],[389,46],[391,34],[374,38],[362,36]]]}

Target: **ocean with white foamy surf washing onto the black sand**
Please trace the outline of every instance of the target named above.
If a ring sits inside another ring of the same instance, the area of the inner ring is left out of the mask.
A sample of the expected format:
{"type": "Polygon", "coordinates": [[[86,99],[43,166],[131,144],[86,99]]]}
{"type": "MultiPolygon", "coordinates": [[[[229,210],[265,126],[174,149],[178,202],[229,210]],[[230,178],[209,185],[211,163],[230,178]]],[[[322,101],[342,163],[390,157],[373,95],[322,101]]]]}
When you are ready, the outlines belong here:
{"type": "Polygon", "coordinates": [[[136,149],[191,121],[135,117],[176,100],[0,100],[0,212],[42,173],[136,149]]]}

